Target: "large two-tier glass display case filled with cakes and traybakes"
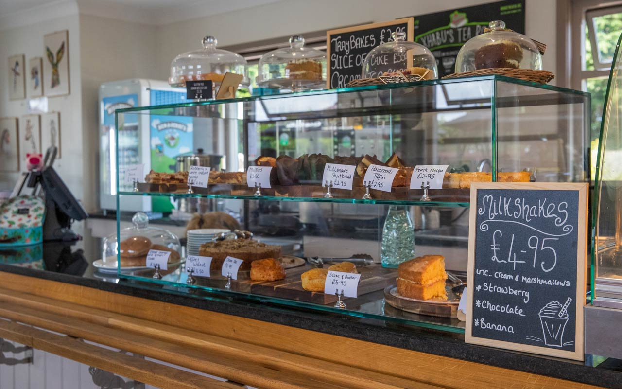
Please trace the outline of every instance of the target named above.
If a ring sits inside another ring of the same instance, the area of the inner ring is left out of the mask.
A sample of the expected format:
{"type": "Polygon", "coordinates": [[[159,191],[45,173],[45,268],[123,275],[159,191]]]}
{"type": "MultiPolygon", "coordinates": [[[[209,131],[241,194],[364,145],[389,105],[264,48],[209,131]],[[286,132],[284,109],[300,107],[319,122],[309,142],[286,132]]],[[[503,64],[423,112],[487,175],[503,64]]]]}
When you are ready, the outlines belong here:
{"type": "MultiPolygon", "coordinates": [[[[590,180],[589,94],[498,75],[131,108],[116,118],[163,108],[192,123],[195,147],[226,156],[226,168],[209,172],[207,188],[188,187],[187,174],[149,172],[118,192],[119,204],[205,198],[215,218],[233,217],[246,232],[193,230],[180,237],[182,264],[163,278],[124,268],[120,256],[118,275],[188,293],[463,332],[456,311],[471,182],[590,180]],[[439,166],[440,176],[422,176],[422,165],[439,166]],[[331,184],[325,172],[341,175],[331,184]],[[211,258],[209,276],[189,278],[187,245],[211,258]],[[423,255],[444,258],[447,300],[396,293],[395,267],[423,255]],[[243,259],[232,279],[222,275],[230,256],[243,259]],[[323,293],[329,267],[361,274],[358,297],[323,293]]],[[[119,171],[131,167],[118,162],[119,171]]]]}

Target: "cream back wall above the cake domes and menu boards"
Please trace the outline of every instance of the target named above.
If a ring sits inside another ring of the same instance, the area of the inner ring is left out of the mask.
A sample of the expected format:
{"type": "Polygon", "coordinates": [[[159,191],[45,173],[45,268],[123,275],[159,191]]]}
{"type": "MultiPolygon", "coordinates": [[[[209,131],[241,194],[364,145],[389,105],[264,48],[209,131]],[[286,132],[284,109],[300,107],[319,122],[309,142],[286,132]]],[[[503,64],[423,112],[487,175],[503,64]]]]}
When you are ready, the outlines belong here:
{"type": "MultiPolygon", "coordinates": [[[[176,55],[199,49],[205,35],[218,45],[234,45],[333,29],[351,24],[389,21],[399,17],[472,6],[493,0],[285,0],[190,21],[167,24],[157,30],[157,78],[169,77],[176,55]]],[[[547,44],[544,68],[555,72],[555,0],[526,0],[526,33],[547,44]]],[[[509,26],[511,28],[511,26],[509,26]]]]}

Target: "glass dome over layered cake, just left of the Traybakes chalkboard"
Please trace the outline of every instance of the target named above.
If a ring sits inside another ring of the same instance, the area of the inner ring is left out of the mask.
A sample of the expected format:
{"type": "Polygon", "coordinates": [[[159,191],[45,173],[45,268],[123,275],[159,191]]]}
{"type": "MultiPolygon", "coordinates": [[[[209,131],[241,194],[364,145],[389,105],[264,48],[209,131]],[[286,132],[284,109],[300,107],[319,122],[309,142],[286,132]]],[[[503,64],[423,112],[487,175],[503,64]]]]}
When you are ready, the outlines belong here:
{"type": "Polygon", "coordinates": [[[272,50],[261,57],[257,85],[291,91],[323,89],[326,87],[326,54],[305,47],[305,39],[293,35],[289,47],[272,50]]]}

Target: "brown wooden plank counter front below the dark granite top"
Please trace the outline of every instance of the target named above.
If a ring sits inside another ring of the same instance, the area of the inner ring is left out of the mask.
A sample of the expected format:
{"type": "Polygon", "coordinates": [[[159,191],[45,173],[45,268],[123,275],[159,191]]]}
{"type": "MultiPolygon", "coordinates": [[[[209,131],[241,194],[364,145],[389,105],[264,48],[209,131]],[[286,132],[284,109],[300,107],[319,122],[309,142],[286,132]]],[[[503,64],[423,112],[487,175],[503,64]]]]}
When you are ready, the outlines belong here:
{"type": "Polygon", "coordinates": [[[163,389],[239,385],[81,339],[262,389],[595,388],[4,272],[0,272],[0,317],[9,320],[0,321],[4,339],[163,389]]]}

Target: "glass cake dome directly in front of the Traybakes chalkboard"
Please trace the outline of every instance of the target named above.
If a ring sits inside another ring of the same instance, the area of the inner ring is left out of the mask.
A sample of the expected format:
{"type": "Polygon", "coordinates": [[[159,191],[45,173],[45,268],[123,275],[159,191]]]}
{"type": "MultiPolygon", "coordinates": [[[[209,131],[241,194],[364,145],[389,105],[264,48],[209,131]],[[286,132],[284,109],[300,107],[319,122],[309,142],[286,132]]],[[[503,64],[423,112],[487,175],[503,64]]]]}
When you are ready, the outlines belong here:
{"type": "Polygon", "coordinates": [[[406,40],[406,32],[392,32],[392,42],[374,47],[363,62],[362,78],[419,75],[422,80],[439,78],[436,59],[424,45],[406,40]]]}

